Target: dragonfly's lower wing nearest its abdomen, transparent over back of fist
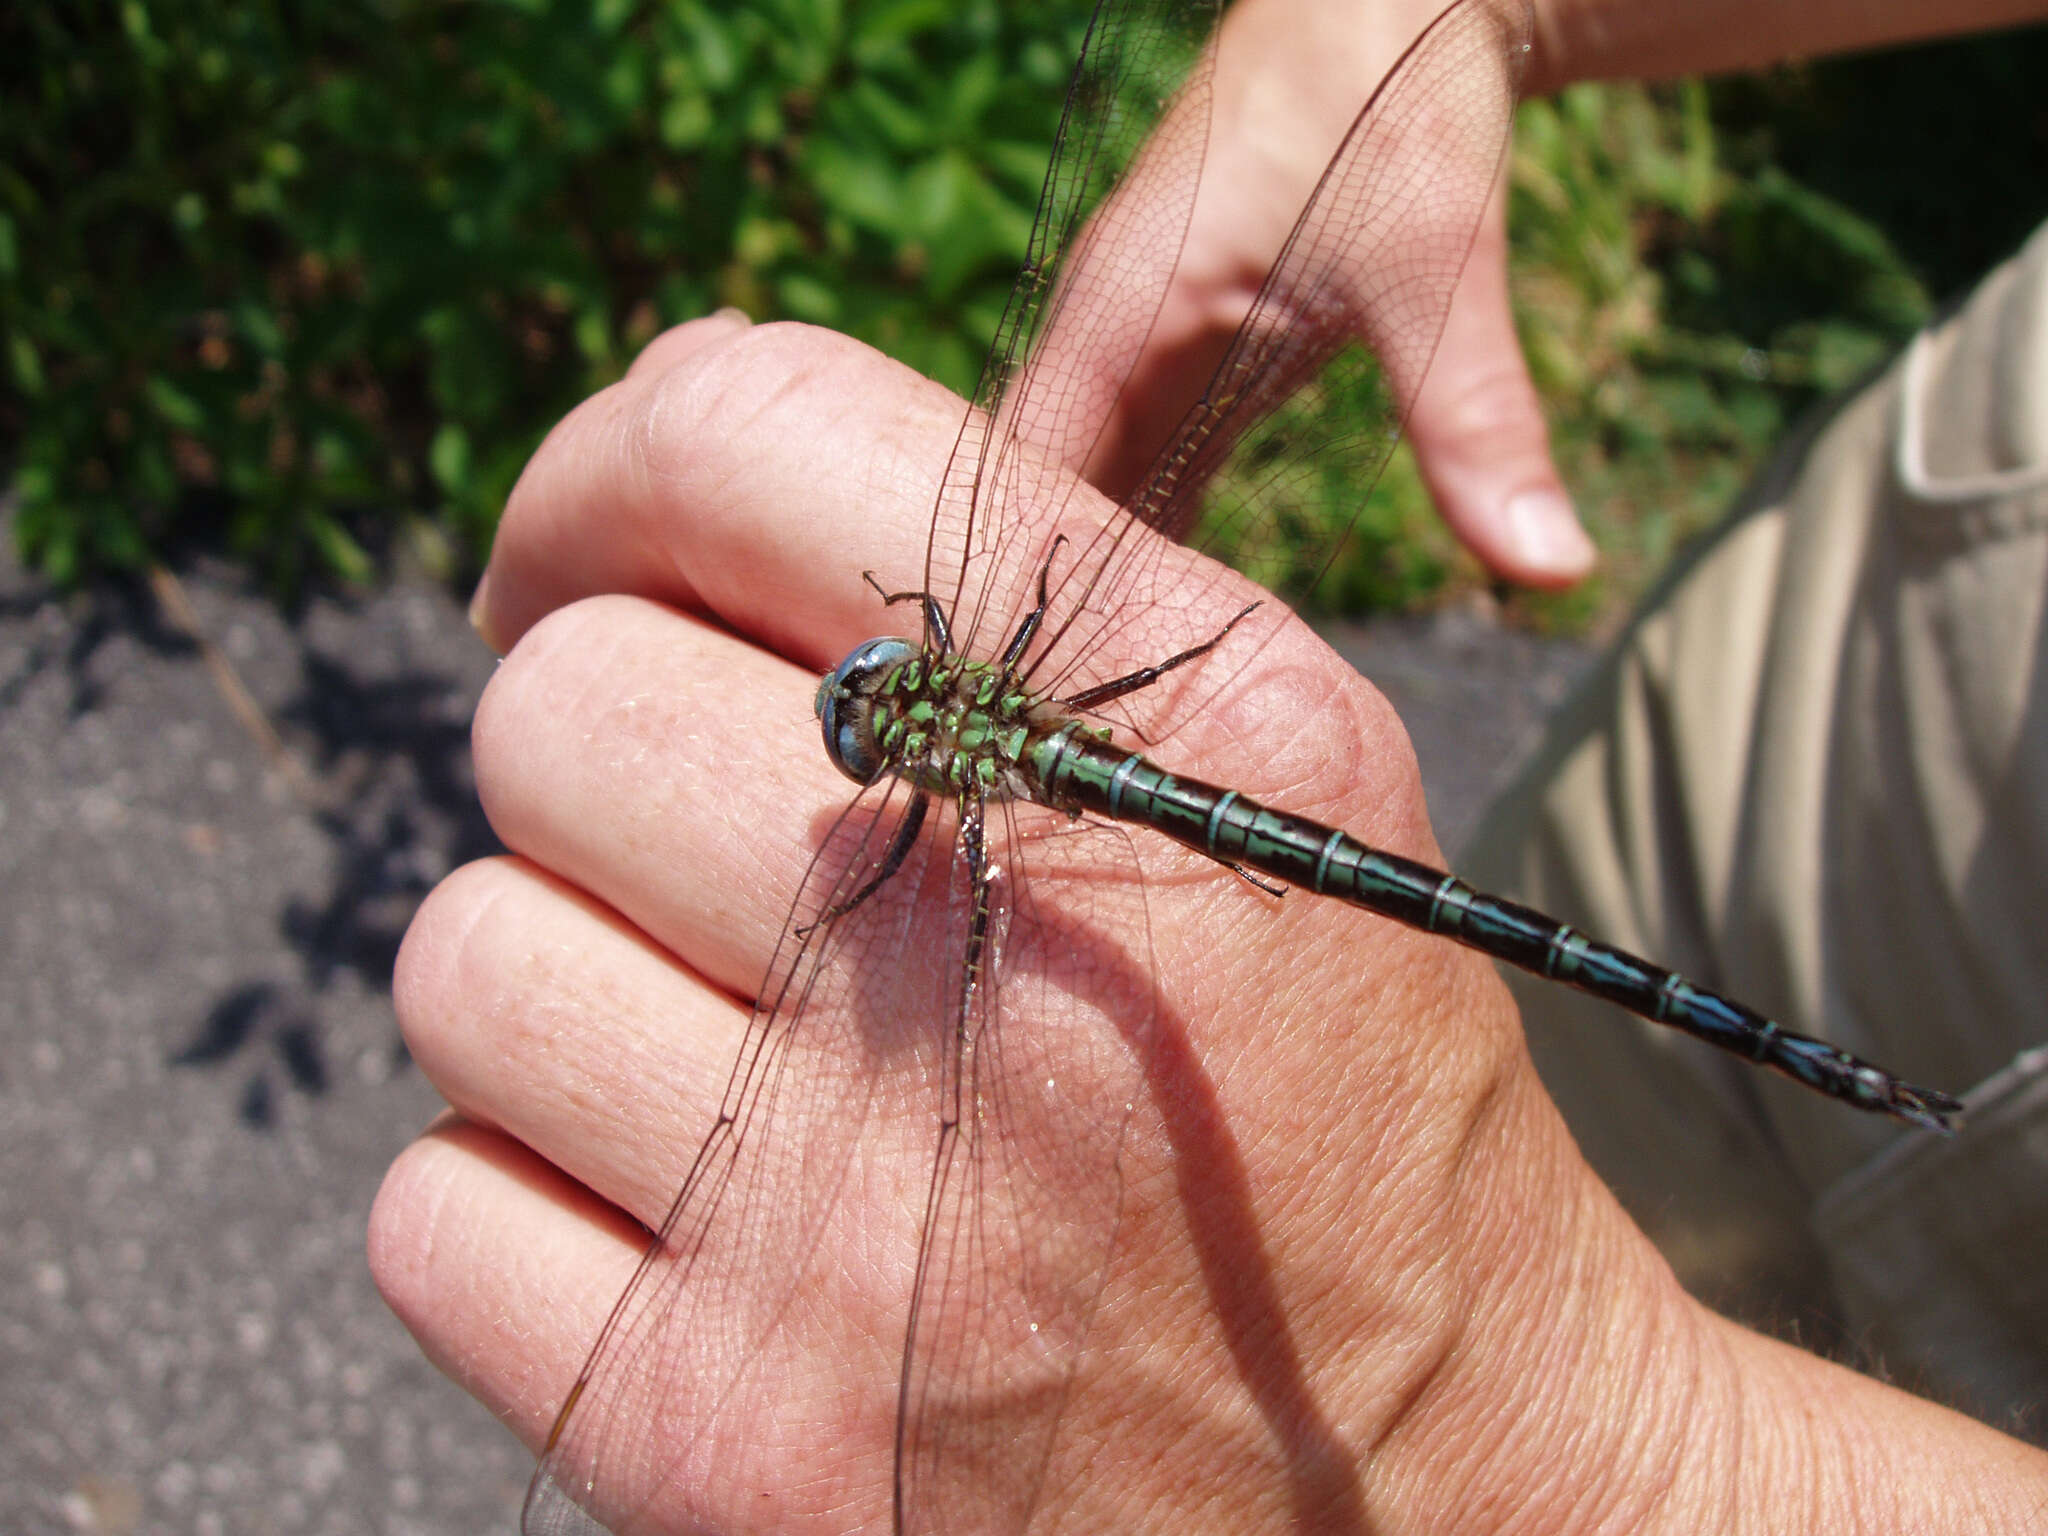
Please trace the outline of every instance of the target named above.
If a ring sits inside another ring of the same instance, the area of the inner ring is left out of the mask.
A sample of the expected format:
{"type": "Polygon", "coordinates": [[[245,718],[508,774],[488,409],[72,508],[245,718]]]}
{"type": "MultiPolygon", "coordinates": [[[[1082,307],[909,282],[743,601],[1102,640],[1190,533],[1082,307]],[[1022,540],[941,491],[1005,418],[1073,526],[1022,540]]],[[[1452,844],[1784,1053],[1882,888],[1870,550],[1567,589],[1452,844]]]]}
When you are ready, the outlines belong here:
{"type": "Polygon", "coordinates": [[[1014,807],[989,809],[981,874],[969,831],[956,860],[969,938],[954,981],[958,1092],[932,1163],[905,1343],[903,1532],[1020,1532],[1030,1520],[1116,1245],[1124,1126],[1155,1008],[1124,831],[1063,823],[1026,838],[1014,807]]]}

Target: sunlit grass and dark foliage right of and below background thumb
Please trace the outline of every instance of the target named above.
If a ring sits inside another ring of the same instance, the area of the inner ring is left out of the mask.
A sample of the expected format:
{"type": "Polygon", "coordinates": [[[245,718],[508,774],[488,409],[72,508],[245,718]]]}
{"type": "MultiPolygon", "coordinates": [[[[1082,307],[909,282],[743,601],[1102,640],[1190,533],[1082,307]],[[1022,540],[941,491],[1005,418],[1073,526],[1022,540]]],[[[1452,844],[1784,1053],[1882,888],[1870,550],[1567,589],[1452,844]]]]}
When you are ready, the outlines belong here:
{"type": "MultiPolygon", "coordinates": [[[[1591,584],[1513,596],[1524,618],[1610,618],[1802,414],[2017,248],[2048,215],[2044,76],[2034,29],[1522,106],[1516,317],[1604,551],[1591,584]]],[[[1403,453],[1315,598],[1417,606],[1481,582],[1403,453]]]]}

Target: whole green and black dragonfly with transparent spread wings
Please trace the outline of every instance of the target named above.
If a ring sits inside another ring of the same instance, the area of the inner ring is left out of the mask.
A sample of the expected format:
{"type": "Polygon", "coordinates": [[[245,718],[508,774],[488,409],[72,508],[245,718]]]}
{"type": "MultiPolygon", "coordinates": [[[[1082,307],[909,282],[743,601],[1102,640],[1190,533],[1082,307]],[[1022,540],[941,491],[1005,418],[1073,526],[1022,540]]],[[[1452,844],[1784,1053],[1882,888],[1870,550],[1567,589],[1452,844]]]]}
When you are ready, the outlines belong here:
{"type": "MultiPolygon", "coordinates": [[[[1104,453],[1190,227],[1214,10],[1096,6],[922,580],[866,578],[920,633],[862,643],[817,688],[825,752],[858,788],[819,838],[719,1116],[555,1419],[526,1536],[688,1524],[760,1405],[793,1395],[815,1280],[844,1262],[827,1233],[856,1194],[901,1212],[915,1255],[895,1382],[877,1389],[893,1391],[891,1466],[864,1524],[885,1509],[899,1532],[1024,1530],[1116,1249],[1120,1147],[1161,1026],[1141,836],[1214,860],[1247,899],[1335,897],[1858,1110],[1958,1120],[1958,1100],[1649,961],[1155,762],[1260,612],[1200,551],[1278,588],[1313,580],[1333,543],[1262,557],[1255,535],[1288,516],[1303,471],[1233,473],[1233,455],[1296,391],[1356,389],[1370,408],[1317,444],[1315,473],[1356,496],[1374,483],[1503,166],[1530,37],[1526,0],[1456,0],[1415,39],[1206,389],[1110,502],[1075,471],[1104,453]],[[922,1184],[877,1202],[864,1133],[901,1124],[924,1126],[899,1157],[922,1184]]],[[[840,1520],[860,1503],[838,1485],[817,1497],[840,1520]]]]}

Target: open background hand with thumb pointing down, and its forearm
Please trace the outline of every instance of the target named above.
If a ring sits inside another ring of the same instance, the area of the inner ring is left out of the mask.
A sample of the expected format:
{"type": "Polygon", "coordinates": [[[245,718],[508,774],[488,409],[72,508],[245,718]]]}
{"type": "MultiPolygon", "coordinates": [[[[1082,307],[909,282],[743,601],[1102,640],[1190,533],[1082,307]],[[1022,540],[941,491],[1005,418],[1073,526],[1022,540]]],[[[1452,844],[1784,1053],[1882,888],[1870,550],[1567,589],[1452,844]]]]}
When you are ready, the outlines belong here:
{"type": "MultiPolygon", "coordinates": [[[[1210,375],[1294,213],[1364,92],[1444,0],[1237,0],[1219,33],[1202,193],[1147,350],[1090,465],[1122,492],[1210,375]]],[[[2042,0],[1534,0],[1526,92],[1587,78],[1667,78],[2015,25],[2042,0]]],[[[1407,438],[1452,532],[1497,575],[1571,586],[1595,559],[1550,461],[1507,301],[1501,190],[1411,401],[1407,438]]]]}

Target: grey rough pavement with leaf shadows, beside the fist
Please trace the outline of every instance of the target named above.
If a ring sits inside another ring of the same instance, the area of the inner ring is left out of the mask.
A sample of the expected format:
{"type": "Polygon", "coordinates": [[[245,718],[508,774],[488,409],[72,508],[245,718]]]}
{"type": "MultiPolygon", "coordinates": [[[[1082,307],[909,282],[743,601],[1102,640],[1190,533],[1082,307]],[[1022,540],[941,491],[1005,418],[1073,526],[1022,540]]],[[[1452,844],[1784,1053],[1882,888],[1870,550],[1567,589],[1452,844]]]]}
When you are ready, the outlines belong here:
{"type": "MultiPolygon", "coordinates": [[[[526,1456],[362,1262],[438,1106],[391,956],[494,846],[492,657],[428,584],[289,621],[223,571],[182,590],[197,627],[0,555],[0,1532],[508,1534],[526,1456]]],[[[1479,612],[1333,641],[1401,707],[1452,848],[1583,655],[1479,612]]]]}

